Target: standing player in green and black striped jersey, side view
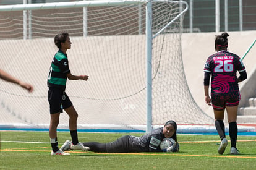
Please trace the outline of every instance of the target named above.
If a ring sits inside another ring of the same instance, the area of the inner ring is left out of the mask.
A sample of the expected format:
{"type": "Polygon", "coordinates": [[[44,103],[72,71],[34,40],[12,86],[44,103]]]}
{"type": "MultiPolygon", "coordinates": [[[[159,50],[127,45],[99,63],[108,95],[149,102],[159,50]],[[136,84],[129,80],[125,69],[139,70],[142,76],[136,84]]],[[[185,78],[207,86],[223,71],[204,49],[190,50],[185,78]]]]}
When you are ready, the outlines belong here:
{"type": "Polygon", "coordinates": [[[51,140],[51,155],[69,155],[59,150],[57,140],[57,127],[59,124],[60,113],[66,111],[69,115],[69,130],[72,137],[71,148],[78,150],[88,150],[82,143],[79,143],[77,137],[77,111],[67,96],[66,82],[69,80],[88,80],[88,75],[72,75],[69,70],[69,61],[67,59],[67,49],[71,48],[69,33],[59,33],[54,37],[55,45],[59,48],[54,55],[48,75],[48,101],[50,106],[51,123],[49,127],[49,137],[51,140]]]}

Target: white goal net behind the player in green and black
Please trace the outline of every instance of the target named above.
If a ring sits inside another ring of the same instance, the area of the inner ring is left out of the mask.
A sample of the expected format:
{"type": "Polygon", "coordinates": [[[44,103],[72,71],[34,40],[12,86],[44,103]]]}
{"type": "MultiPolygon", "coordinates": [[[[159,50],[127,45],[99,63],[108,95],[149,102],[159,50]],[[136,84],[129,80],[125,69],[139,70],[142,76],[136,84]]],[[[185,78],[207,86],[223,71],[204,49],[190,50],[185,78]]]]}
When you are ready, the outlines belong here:
{"type": "MultiPolygon", "coordinates": [[[[153,125],[212,124],[187,86],[181,54],[182,1],[81,1],[0,6],[0,68],[35,91],[0,80],[1,124],[49,127],[49,66],[54,36],[68,32],[74,75],[66,93],[79,129],[145,129],[147,124],[147,15],[151,16],[151,117],[153,125]],[[54,4],[54,5],[53,5],[54,4]],[[56,4],[56,5],[55,5],[56,4]]],[[[59,127],[68,127],[61,113],[59,127]]]]}

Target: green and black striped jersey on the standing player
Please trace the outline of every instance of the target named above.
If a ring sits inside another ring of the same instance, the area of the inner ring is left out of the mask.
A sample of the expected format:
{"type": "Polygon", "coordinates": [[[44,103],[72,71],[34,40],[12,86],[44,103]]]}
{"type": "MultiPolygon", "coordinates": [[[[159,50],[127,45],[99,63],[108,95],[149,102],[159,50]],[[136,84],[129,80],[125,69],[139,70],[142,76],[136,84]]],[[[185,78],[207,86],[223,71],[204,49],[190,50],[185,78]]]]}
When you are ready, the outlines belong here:
{"type": "Polygon", "coordinates": [[[70,73],[69,61],[67,54],[64,54],[60,49],[54,55],[48,75],[48,87],[61,88],[65,90],[67,83],[67,74],[70,73]]]}

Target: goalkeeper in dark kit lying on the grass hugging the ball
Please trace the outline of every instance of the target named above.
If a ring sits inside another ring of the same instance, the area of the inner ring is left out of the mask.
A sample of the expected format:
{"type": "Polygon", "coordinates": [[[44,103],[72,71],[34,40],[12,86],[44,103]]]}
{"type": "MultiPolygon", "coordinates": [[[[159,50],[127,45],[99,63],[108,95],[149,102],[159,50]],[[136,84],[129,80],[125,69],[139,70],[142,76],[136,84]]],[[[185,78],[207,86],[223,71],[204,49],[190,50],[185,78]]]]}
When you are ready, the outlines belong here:
{"type": "MultiPolygon", "coordinates": [[[[168,121],[164,127],[152,130],[150,133],[135,137],[125,135],[114,142],[98,143],[84,142],[83,146],[89,147],[89,151],[104,153],[131,153],[131,152],[178,152],[179,143],[177,142],[177,124],[174,121],[168,121]],[[175,143],[171,147],[160,149],[160,143],[164,138],[173,138],[175,143]]],[[[66,140],[62,145],[62,151],[70,150],[70,142],[66,140]]]]}

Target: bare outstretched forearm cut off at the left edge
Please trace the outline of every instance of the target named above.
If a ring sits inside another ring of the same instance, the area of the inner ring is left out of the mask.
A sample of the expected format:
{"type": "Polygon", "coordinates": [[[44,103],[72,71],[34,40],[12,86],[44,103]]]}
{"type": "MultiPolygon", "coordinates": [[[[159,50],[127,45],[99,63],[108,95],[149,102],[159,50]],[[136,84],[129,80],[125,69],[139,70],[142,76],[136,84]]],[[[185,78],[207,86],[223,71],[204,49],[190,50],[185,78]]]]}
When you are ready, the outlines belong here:
{"type": "Polygon", "coordinates": [[[0,78],[2,80],[6,80],[7,82],[11,82],[11,83],[20,85],[20,87],[27,89],[29,92],[33,91],[33,86],[32,85],[30,85],[28,83],[25,83],[25,82],[22,82],[19,79],[16,79],[12,75],[7,74],[7,72],[5,72],[4,70],[1,70],[1,69],[0,69],[0,78]]]}

